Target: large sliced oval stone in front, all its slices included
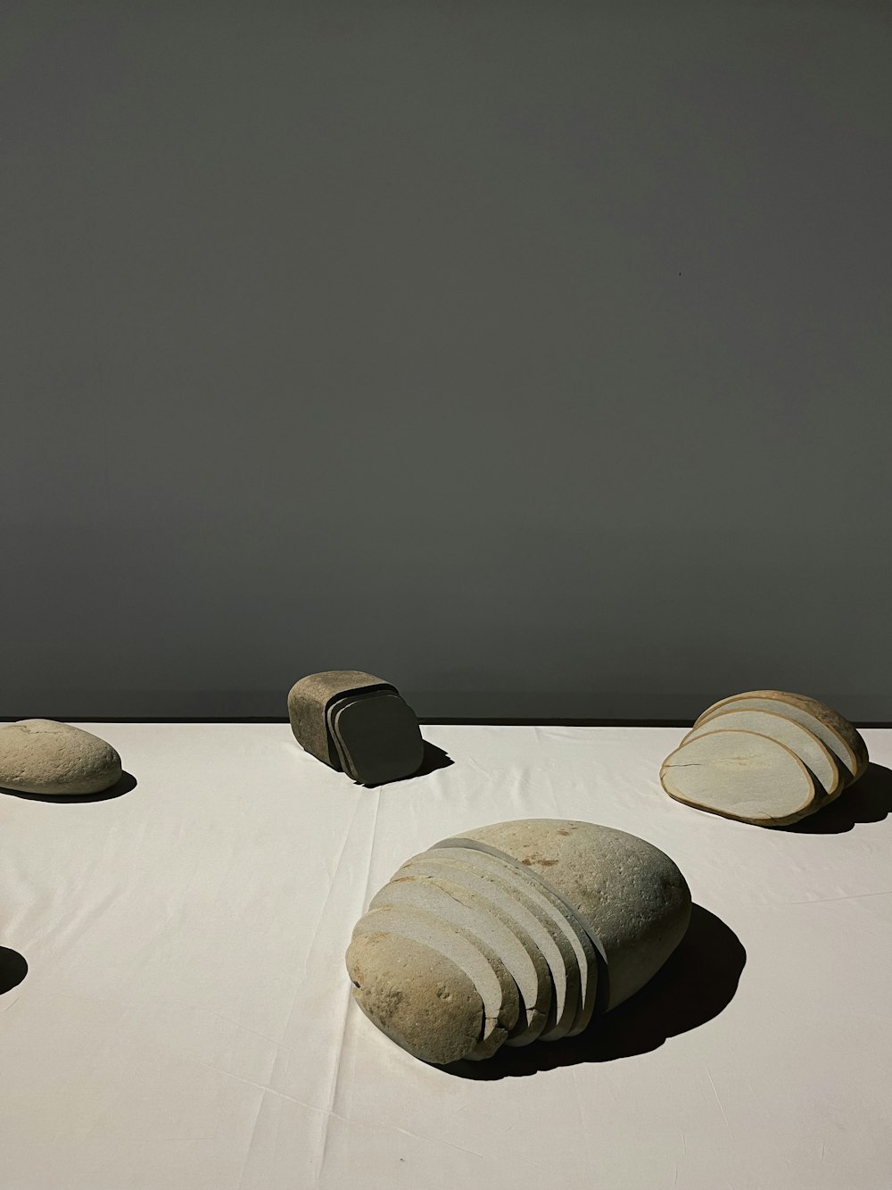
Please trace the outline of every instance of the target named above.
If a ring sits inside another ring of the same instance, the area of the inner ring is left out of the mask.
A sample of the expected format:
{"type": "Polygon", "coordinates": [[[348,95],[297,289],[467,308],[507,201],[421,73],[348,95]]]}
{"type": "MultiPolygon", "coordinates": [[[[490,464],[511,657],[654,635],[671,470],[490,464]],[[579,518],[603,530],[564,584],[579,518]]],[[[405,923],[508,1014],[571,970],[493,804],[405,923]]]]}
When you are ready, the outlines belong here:
{"type": "Polygon", "coordinates": [[[422,1061],[582,1033],[680,942],[676,864],[591,822],[521,819],[445,839],[372,897],[347,950],[365,1015],[422,1061]]]}

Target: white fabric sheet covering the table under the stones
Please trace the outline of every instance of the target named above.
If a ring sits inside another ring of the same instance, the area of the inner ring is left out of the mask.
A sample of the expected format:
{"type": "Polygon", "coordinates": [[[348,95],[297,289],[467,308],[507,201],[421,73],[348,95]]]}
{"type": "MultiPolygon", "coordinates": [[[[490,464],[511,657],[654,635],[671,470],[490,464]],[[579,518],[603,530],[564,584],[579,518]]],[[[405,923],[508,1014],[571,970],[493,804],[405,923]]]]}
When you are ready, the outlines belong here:
{"type": "Polygon", "coordinates": [[[425,727],[454,763],[368,790],[287,725],[80,726],[134,789],[0,795],[5,1190],[892,1185],[892,732],[766,831],[662,794],[681,728],[425,727]],[[409,856],[526,816],[648,839],[708,913],[595,1040],[458,1077],[373,1028],[344,952],[409,856]]]}

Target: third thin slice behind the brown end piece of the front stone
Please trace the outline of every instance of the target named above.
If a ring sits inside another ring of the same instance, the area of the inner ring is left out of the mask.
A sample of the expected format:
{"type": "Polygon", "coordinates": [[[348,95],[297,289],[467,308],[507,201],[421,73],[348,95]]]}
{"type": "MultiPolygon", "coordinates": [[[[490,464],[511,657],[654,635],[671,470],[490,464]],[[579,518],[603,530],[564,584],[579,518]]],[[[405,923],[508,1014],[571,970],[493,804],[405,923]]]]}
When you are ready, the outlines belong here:
{"type": "Polygon", "coordinates": [[[498,873],[469,864],[457,848],[429,851],[407,860],[397,876],[432,876],[466,888],[472,895],[491,901],[510,921],[519,939],[541,954],[552,979],[552,1004],[542,1041],[557,1041],[570,1032],[579,1008],[579,967],[570,942],[552,919],[539,909],[527,889],[513,887],[498,873]]]}

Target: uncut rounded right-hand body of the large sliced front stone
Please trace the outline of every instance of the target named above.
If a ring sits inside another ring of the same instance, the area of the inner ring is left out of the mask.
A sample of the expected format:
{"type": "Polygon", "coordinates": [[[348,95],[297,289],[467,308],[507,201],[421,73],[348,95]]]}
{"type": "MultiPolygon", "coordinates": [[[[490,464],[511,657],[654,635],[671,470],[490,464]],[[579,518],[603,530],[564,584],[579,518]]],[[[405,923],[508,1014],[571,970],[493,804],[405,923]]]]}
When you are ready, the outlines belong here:
{"type": "Polygon", "coordinates": [[[604,1009],[616,1007],[642,988],[687,929],[691,892],[684,876],[658,847],[624,831],[565,819],[519,819],[456,838],[488,844],[535,871],[576,910],[607,963],[598,1010],[602,1003],[604,1009]]]}

